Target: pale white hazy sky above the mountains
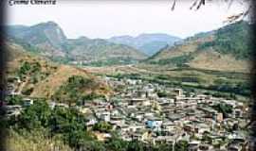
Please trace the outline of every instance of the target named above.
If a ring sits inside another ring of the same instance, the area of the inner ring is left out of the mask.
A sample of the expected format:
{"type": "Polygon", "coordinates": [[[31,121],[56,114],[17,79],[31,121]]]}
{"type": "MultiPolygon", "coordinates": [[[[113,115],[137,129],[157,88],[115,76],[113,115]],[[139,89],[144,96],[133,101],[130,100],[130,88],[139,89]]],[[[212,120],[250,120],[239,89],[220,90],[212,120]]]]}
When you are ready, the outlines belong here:
{"type": "Polygon", "coordinates": [[[192,1],[57,1],[56,6],[16,5],[8,7],[8,25],[35,25],[54,21],[68,38],[110,38],[140,33],[167,33],[181,38],[224,25],[228,15],[241,12],[246,6],[234,3],[207,3],[199,10],[190,10],[192,1]]]}

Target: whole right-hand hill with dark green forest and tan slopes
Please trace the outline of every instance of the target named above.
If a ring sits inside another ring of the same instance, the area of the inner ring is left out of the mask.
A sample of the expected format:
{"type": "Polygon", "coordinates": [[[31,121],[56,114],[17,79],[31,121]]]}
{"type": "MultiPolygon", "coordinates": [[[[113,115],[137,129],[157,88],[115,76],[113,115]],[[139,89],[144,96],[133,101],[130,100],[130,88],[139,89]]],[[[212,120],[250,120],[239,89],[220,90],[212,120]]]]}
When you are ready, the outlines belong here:
{"type": "Polygon", "coordinates": [[[252,57],[249,24],[245,21],[199,33],[161,49],[147,63],[210,70],[248,71],[252,57]]]}

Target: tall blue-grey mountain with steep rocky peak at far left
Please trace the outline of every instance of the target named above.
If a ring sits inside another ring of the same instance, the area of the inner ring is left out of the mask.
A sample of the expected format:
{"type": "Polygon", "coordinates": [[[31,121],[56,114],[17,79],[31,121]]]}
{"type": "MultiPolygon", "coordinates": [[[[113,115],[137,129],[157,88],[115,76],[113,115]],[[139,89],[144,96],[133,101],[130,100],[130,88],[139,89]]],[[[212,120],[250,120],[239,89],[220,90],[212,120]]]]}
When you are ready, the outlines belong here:
{"type": "Polygon", "coordinates": [[[8,36],[17,42],[27,42],[41,48],[46,56],[64,57],[66,37],[62,28],[54,22],[38,25],[9,25],[8,36]]]}

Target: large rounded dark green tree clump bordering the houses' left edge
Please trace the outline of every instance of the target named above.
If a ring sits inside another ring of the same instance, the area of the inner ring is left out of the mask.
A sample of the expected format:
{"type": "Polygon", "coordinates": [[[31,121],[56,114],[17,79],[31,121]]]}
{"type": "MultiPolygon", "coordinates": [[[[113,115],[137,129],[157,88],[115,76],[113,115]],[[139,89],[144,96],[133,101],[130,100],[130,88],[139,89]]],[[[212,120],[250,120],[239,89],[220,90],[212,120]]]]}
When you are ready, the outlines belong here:
{"type": "Polygon", "coordinates": [[[50,135],[63,135],[64,143],[79,148],[94,137],[86,131],[85,118],[76,109],[55,108],[49,118],[50,135]]]}

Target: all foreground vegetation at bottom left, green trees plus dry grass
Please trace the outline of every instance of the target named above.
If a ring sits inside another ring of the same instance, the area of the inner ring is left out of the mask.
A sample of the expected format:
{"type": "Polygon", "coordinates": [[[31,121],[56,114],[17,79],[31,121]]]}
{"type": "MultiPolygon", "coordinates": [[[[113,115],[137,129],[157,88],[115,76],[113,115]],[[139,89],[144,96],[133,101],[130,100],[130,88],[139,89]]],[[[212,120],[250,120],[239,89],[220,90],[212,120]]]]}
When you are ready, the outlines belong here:
{"type": "MultiPolygon", "coordinates": [[[[62,148],[62,150],[86,150],[86,151],[168,151],[172,144],[159,145],[141,143],[136,140],[126,142],[120,140],[110,126],[100,123],[95,130],[110,132],[112,138],[106,142],[99,142],[93,131],[87,129],[83,116],[76,109],[54,108],[50,109],[46,101],[35,101],[33,105],[23,110],[17,118],[10,118],[7,122],[9,128],[9,147],[13,151],[34,150],[40,144],[46,148],[62,148]]],[[[40,147],[40,149],[41,149],[40,147]]],[[[175,148],[183,151],[186,143],[177,143],[175,148]]]]}

